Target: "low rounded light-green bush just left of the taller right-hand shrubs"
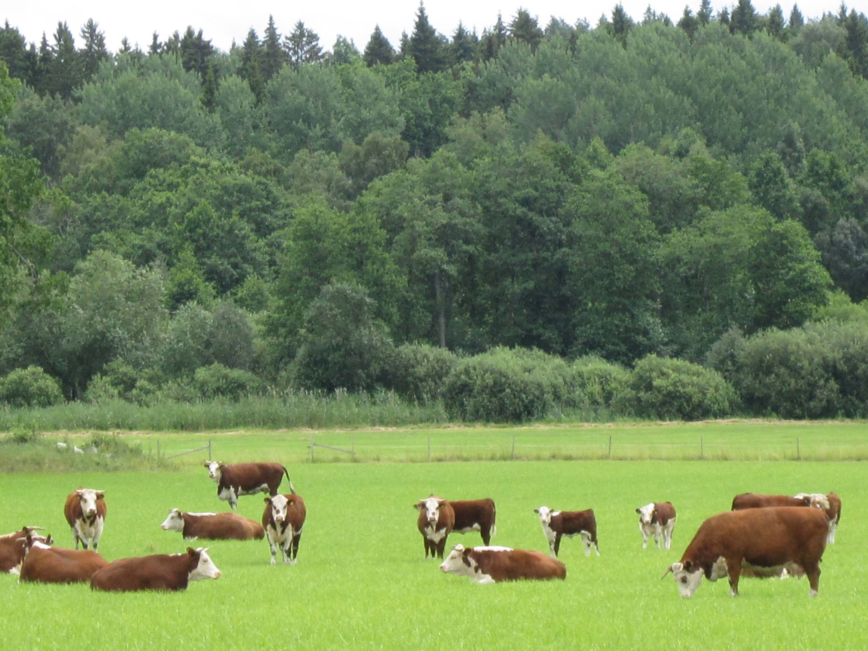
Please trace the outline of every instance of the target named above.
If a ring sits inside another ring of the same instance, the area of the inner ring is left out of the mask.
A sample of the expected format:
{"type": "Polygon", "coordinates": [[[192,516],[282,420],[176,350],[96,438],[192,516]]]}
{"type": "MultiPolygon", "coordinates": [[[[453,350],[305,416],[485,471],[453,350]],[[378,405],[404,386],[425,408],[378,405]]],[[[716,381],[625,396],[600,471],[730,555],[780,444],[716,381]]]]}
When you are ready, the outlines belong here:
{"type": "Polygon", "coordinates": [[[613,400],[639,418],[700,420],[731,413],[732,386],[719,372],[681,359],[641,358],[613,400]]]}

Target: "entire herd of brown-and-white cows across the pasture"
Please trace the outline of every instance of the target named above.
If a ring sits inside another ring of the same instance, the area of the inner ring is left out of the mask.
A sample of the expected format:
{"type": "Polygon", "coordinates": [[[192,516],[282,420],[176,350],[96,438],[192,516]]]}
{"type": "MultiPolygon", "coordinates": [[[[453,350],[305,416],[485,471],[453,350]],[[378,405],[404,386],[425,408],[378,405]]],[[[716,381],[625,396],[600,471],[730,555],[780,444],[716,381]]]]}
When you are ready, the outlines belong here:
{"type": "MultiPolygon", "coordinates": [[[[217,483],[217,496],[234,510],[239,496],[264,492],[261,523],[233,512],[190,513],[172,509],[161,528],[181,533],[185,540],[262,540],[285,563],[294,563],[306,520],[304,500],[281,464],[220,464],[207,461],[208,476],[217,483]],[[290,492],[279,494],[286,477],[290,492]]],[[[493,583],[520,579],[564,579],[567,571],[557,559],[563,536],[580,536],[585,556],[600,556],[594,510],[552,510],[541,506],[542,533],[549,555],[529,549],[491,546],[496,535],[496,508],[489,498],[446,500],[435,495],[413,504],[423,537],[424,557],[437,557],[445,573],[466,575],[472,582],[493,583]],[[445,554],[452,533],[477,531],[483,545],[458,544],[445,554]],[[445,556],[445,557],[444,557],[445,556]]],[[[669,502],[652,502],[635,510],[639,515],[642,549],[653,537],[656,547],[670,549],[676,519],[669,502]]],[[[0,536],[0,572],[19,575],[22,582],[89,582],[91,589],[132,591],[186,589],[188,582],[220,578],[207,554],[209,548],[188,547],[173,555],[122,558],[108,562],[97,553],[106,519],[102,490],[79,488],[67,496],[63,515],[75,549],[54,546],[39,527],[23,527],[0,536]],[[81,550],[78,549],[81,543],[81,550]]],[[[732,510],[709,517],[687,546],[681,561],[669,566],[683,597],[690,597],[702,576],[716,581],[727,576],[732,595],[738,595],[740,576],[807,575],[810,594],[819,587],[819,562],[827,543],[835,541],[841,501],[834,493],[796,496],[744,493],[735,496],[732,510]]]]}

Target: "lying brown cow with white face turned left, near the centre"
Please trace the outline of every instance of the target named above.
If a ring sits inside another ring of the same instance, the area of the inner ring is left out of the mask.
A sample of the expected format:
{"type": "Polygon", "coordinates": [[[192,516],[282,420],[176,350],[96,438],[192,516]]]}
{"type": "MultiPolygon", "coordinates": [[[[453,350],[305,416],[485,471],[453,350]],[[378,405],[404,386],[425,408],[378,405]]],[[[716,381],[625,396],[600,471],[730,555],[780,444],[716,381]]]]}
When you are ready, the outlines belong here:
{"type": "Polygon", "coordinates": [[[567,568],[541,551],[509,547],[468,547],[456,545],[440,570],[470,576],[473,583],[498,583],[522,579],[564,579],[567,568]]]}

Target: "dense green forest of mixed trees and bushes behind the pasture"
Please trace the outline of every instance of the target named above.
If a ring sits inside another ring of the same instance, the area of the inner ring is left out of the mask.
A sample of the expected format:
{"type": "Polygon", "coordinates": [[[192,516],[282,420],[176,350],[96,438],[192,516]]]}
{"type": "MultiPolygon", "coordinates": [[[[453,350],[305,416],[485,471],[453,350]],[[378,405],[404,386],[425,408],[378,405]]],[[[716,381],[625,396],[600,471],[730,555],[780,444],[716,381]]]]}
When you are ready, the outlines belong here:
{"type": "Polygon", "coordinates": [[[868,18],[0,29],[0,404],[868,413],[868,18]],[[411,28],[411,29],[410,29],[411,28]]]}

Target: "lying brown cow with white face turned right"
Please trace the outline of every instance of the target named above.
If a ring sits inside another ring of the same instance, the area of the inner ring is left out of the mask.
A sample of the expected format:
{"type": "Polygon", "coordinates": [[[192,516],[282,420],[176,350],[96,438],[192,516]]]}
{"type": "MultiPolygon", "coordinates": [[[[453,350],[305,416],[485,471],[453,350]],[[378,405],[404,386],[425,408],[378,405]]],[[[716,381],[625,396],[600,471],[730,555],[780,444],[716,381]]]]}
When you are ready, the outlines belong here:
{"type": "Polygon", "coordinates": [[[191,581],[219,579],[208,548],[187,547],[182,554],[155,554],[110,562],[90,577],[90,589],[113,592],[186,590],[191,581]]]}

